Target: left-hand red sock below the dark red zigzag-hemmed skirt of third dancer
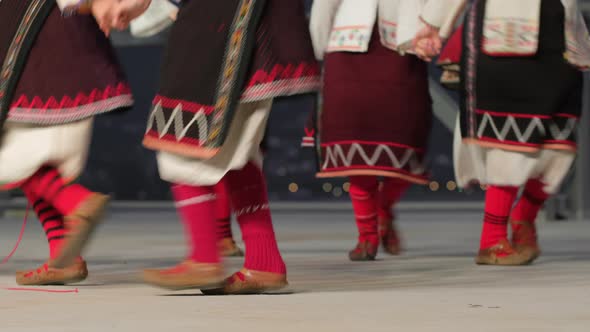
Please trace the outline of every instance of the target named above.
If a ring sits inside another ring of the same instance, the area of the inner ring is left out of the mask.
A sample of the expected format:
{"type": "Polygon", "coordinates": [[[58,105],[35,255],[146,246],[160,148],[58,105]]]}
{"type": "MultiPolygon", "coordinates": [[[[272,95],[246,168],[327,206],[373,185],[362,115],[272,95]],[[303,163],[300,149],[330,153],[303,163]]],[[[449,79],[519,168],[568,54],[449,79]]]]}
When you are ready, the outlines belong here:
{"type": "Polygon", "coordinates": [[[359,231],[358,241],[378,246],[377,225],[377,191],[379,183],[374,176],[351,176],[350,199],[356,226],[359,231]]]}

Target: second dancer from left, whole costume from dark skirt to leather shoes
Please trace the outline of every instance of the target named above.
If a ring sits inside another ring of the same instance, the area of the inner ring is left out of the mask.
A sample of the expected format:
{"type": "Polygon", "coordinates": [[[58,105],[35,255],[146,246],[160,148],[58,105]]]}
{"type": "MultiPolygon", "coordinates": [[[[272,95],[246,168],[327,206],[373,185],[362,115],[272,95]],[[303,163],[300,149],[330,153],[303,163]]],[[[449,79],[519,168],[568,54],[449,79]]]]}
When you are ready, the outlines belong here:
{"type": "Polygon", "coordinates": [[[145,272],[148,283],[213,293],[287,284],[269,211],[260,142],[276,97],[316,91],[300,1],[183,2],[169,39],[144,145],[158,151],[186,226],[187,259],[145,272]],[[215,185],[225,181],[246,246],[244,268],[223,283],[215,185]]]}

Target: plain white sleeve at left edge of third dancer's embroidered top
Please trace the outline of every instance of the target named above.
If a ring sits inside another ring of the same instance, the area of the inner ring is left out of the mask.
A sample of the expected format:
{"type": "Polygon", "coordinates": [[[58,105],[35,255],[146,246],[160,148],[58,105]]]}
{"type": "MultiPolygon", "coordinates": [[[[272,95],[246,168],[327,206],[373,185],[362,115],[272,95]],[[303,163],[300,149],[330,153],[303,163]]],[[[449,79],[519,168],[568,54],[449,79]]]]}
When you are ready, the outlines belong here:
{"type": "Polygon", "coordinates": [[[315,0],[311,7],[309,29],[316,58],[322,60],[330,41],[336,11],[342,0],[315,0]]]}

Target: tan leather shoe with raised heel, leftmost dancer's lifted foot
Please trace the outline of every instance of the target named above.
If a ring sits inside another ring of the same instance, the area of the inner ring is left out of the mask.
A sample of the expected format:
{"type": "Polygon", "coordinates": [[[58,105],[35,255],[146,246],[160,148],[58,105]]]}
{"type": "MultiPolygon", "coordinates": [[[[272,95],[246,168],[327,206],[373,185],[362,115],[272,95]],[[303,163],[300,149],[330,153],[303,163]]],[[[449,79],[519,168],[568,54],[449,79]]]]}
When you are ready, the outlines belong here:
{"type": "Polygon", "coordinates": [[[88,244],[92,234],[100,223],[110,197],[92,193],[78,208],[65,216],[66,238],[61,255],[51,261],[51,266],[64,268],[71,265],[88,244]]]}

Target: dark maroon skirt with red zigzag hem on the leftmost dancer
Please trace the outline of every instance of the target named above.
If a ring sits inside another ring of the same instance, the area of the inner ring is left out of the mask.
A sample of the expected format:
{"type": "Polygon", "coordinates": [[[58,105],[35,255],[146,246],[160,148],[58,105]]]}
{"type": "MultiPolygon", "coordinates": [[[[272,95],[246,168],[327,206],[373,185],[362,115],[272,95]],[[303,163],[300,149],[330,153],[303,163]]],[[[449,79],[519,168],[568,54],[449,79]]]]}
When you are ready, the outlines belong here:
{"type": "MultiPolygon", "coordinates": [[[[4,0],[1,14],[9,15],[19,1],[4,0]]],[[[12,40],[6,37],[3,44],[12,40]]],[[[8,121],[63,124],[132,103],[114,50],[94,18],[64,18],[54,6],[20,73],[8,121]]]]}

